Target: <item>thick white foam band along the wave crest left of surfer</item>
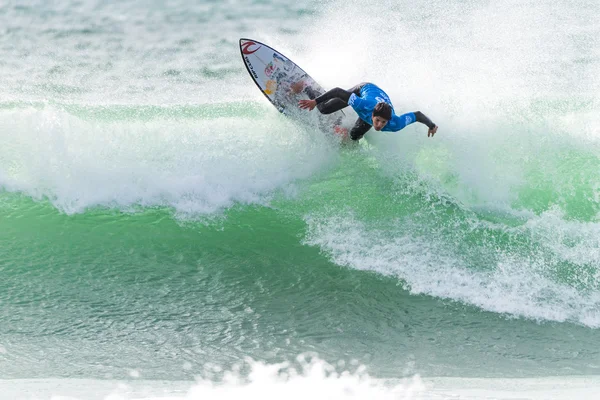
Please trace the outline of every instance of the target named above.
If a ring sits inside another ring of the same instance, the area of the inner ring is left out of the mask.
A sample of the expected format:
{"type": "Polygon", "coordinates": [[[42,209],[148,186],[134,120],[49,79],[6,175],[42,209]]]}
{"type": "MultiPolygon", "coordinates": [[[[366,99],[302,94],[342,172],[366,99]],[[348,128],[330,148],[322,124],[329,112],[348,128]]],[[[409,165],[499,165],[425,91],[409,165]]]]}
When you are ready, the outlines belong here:
{"type": "Polygon", "coordinates": [[[46,106],[1,111],[0,126],[0,185],[66,213],[142,205],[211,214],[264,204],[335,154],[320,132],[271,108],[253,119],[106,122],[46,106]]]}

